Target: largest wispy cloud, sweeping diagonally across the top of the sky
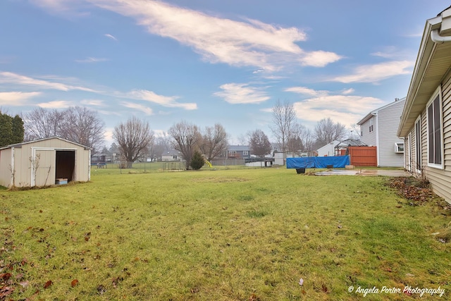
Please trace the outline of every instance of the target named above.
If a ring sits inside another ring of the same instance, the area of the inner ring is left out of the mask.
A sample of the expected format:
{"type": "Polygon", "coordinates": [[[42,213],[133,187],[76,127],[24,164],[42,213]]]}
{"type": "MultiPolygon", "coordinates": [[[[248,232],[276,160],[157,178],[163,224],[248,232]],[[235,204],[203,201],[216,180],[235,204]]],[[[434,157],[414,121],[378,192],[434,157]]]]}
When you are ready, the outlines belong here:
{"type": "MultiPolygon", "coordinates": [[[[297,42],[305,41],[307,35],[297,27],[283,27],[252,19],[230,20],[162,1],[87,1],[134,18],[152,35],[175,39],[192,47],[210,63],[280,70],[293,62],[301,66],[323,67],[341,59],[333,52],[301,49],[297,42]]],[[[57,2],[47,0],[39,6],[61,10],[58,7],[63,4],[57,2]]],[[[106,36],[109,37],[109,34],[106,36]]]]}

